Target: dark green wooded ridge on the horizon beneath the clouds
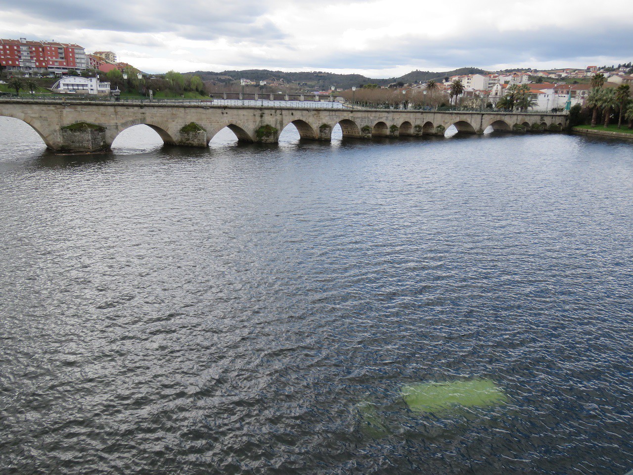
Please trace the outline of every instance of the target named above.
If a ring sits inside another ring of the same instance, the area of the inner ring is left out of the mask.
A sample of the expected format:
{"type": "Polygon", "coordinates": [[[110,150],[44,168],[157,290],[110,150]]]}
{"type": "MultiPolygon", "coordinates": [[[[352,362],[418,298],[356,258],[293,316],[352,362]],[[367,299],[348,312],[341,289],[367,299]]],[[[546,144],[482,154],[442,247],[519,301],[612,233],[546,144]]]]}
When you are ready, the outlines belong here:
{"type": "Polygon", "coordinates": [[[247,69],[247,70],[229,70],[222,72],[213,71],[195,71],[187,74],[199,75],[204,81],[213,81],[220,84],[229,84],[241,78],[250,79],[252,81],[265,81],[270,79],[281,80],[289,84],[298,84],[312,89],[325,90],[334,85],[337,88],[349,89],[353,85],[360,86],[362,84],[378,84],[388,85],[394,82],[404,82],[411,84],[418,81],[427,81],[429,79],[442,80],[446,76],[486,73],[479,68],[459,68],[452,71],[433,72],[433,71],[411,71],[401,77],[392,77],[389,79],[372,79],[361,74],[336,74],[323,71],[310,72],[284,72],[272,71],[267,69],[247,69]]]}

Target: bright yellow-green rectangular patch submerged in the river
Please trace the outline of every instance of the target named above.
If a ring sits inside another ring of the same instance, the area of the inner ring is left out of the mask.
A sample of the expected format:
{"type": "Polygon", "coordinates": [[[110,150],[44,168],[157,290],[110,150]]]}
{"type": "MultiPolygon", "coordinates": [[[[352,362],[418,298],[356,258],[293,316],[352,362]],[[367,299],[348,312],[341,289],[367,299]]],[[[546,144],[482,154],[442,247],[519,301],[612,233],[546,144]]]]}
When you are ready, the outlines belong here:
{"type": "Polygon", "coordinates": [[[407,384],[401,393],[414,412],[449,412],[456,406],[492,407],[508,400],[508,396],[489,379],[407,384]]]}

